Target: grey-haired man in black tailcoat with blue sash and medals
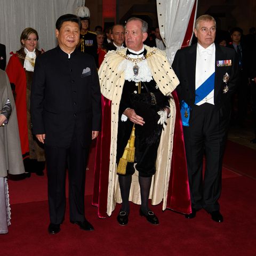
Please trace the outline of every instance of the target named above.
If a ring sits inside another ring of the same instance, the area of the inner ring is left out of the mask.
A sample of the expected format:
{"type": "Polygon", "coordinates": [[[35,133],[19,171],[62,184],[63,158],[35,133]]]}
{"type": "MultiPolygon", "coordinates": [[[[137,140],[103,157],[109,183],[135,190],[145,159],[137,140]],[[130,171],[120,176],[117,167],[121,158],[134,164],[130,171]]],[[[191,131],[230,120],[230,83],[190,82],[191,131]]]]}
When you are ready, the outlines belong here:
{"type": "Polygon", "coordinates": [[[238,61],[235,51],[214,44],[216,22],[202,15],[195,23],[197,44],[177,51],[173,69],[185,138],[192,213],[205,209],[214,221],[222,222],[218,199],[221,169],[229,119],[230,95],[234,92],[238,61]],[[203,155],[206,167],[203,178],[203,155]]]}

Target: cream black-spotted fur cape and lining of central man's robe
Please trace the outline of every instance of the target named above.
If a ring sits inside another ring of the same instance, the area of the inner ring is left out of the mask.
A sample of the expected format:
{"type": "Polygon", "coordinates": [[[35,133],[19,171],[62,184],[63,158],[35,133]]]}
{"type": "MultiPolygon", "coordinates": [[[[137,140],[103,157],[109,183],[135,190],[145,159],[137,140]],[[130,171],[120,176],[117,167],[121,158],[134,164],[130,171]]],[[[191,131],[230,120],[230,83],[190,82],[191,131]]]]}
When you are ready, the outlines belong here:
{"type": "MultiPolygon", "coordinates": [[[[147,58],[148,66],[159,90],[164,95],[170,95],[179,84],[179,80],[172,70],[165,57],[165,52],[145,45],[147,54],[153,52],[147,58]]],[[[119,50],[121,55],[126,54],[126,50],[119,50]]],[[[108,199],[107,214],[111,215],[116,203],[121,203],[121,193],[118,184],[118,175],[116,174],[116,149],[117,149],[117,131],[118,131],[118,110],[121,101],[124,72],[119,69],[119,65],[124,58],[114,51],[108,52],[99,69],[99,79],[101,93],[104,97],[111,100],[111,145],[110,145],[110,163],[109,163],[109,181],[108,181],[108,199]]],[[[175,123],[175,103],[171,98],[171,117],[167,121],[167,127],[161,135],[160,145],[158,147],[158,157],[156,161],[156,174],[153,177],[150,198],[153,205],[163,201],[163,210],[166,209],[167,191],[171,170],[172,158],[172,140],[175,123]]],[[[130,201],[140,204],[140,187],[138,182],[138,172],[132,176],[132,185],[130,190],[130,201]]]]}

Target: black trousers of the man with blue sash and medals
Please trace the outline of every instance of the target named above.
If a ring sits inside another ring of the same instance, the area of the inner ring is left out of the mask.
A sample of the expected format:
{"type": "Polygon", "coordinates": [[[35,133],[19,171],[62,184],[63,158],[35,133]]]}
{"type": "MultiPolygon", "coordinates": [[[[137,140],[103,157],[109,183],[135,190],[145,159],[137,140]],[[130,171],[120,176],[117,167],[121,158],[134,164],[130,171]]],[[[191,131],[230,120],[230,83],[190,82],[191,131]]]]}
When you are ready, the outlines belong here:
{"type": "Polygon", "coordinates": [[[222,159],[230,111],[204,103],[194,105],[189,127],[183,126],[191,205],[207,212],[219,210],[222,159]],[[203,179],[203,156],[206,166],[203,179]]]}

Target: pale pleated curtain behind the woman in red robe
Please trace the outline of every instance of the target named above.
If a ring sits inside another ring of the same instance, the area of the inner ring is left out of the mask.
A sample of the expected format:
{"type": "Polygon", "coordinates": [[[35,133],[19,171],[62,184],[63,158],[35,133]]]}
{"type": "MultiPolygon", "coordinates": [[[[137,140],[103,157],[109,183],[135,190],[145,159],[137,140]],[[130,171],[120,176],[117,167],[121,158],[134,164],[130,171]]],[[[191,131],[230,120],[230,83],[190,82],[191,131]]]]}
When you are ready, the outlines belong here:
{"type": "MultiPolygon", "coordinates": [[[[55,22],[62,15],[75,13],[83,0],[0,0],[0,43],[9,53],[20,49],[23,29],[32,27],[39,35],[38,49],[45,51],[57,45],[55,22]]],[[[7,63],[6,63],[7,64],[7,63]]]]}

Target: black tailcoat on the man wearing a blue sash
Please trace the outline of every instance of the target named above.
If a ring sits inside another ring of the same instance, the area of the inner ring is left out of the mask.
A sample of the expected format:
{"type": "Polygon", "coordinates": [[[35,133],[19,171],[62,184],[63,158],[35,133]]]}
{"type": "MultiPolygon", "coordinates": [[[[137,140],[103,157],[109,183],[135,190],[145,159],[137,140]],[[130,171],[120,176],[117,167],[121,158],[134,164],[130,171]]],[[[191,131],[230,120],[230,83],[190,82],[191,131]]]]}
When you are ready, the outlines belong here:
{"type": "MultiPolygon", "coordinates": [[[[175,74],[180,80],[177,87],[179,99],[185,100],[189,106],[195,103],[195,83],[196,83],[196,47],[194,44],[177,51],[172,63],[175,74]]],[[[234,93],[238,78],[238,63],[234,50],[215,44],[215,84],[214,84],[214,105],[216,108],[230,106],[230,95],[234,93]],[[227,67],[217,67],[218,60],[231,60],[232,65],[227,67]],[[223,76],[228,73],[229,90],[223,93],[225,83],[223,76]]],[[[228,113],[227,113],[228,114],[228,113]]]]}

